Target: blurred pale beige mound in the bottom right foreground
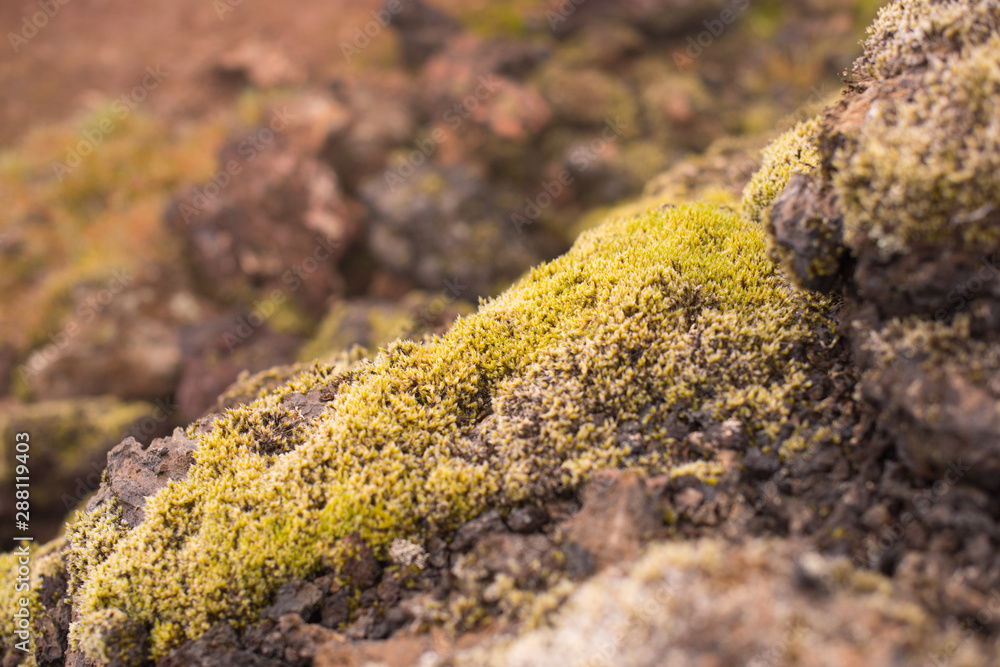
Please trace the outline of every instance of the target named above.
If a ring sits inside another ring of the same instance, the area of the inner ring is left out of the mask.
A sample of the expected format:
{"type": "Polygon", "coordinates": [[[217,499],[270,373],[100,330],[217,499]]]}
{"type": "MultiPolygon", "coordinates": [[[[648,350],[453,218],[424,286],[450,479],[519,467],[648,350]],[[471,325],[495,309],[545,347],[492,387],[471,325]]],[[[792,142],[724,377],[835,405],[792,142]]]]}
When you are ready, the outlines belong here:
{"type": "Polygon", "coordinates": [[[950,644],[954,635],[932,630],[912,596],[843,559],[814,554],[812,570],[836,573],[836,583],[826,597],[803,589],[796,574],[801,548],[756,540],[661,545],[624,574],[584,584],[553,627],[460,652],[451,664],[812,667],[947,655],[971,665],[992,655],[975,640],[950,644]]]}

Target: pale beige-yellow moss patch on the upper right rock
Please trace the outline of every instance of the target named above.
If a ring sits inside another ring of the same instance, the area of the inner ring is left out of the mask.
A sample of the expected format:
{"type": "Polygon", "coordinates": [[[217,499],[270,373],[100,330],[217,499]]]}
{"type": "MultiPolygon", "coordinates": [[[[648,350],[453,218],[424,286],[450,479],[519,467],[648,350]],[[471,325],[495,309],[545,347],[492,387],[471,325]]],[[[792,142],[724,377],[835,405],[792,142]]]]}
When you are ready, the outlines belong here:
{"type": "MultiPolygon", "coordinates": [[[[935,4],[928,16],[965,4],[935,4]]],[[[868,237],[888,254],[914,244],[1000,242],[998,54],[994,34],[876,96],[834,154],[849,245],[868,237]]]]}

